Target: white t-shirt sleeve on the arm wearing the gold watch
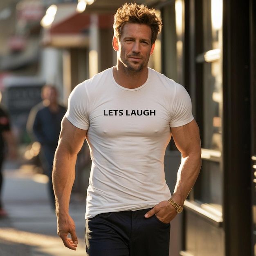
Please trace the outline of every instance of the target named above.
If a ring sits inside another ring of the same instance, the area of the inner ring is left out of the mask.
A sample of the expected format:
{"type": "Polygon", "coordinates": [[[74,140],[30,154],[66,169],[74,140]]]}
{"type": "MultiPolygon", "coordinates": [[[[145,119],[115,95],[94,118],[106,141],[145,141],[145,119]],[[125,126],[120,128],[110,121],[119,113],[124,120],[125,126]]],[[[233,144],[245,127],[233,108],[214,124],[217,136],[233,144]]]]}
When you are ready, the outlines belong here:
{"type": "Polygon", "coordinates": [[[189,124],[193,119],[191,98],[186,89],[175,83],[175,98],[173,101],[173,112],[170,121],[170,127],[179,127],[189,124]]]}

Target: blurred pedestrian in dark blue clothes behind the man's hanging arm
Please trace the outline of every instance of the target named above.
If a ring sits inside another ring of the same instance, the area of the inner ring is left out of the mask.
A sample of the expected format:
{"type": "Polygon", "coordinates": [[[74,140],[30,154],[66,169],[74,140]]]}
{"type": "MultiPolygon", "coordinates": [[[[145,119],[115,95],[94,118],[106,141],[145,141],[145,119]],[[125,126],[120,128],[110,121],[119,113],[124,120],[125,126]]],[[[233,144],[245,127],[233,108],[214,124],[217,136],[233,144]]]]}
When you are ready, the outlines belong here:
{"type": "MultiPolygon", "coordinates": [[[[66,112],[66,107],[58,103],[58,91],[52,85],[46,85],[42,91],[43,102],[32,109],[34,115],[32,124],[34,137],[41,144],[46,174],[49,177],[49,196],[52,207],[55,209],[55,197],[52,187],[52,165],[54,153],[58,144],[61,130],[61,120],[66,112]]],[[[32,118],[31,118],[32,119],[32,118]]]]}

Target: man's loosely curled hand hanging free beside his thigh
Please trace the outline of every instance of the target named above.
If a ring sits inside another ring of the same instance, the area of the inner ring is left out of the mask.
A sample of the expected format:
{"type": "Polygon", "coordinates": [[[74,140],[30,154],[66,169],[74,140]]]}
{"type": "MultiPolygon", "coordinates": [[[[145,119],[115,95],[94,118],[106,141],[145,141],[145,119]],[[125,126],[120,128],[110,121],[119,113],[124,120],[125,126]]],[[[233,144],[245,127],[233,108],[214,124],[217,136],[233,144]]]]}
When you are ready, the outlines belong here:
{"type": "Polygon", "coordinates": [[[78,240],[74,220],[68,216],[67,218],[57,218],[57,223],[58,236],[62,239],[65,247],[76,250],[78,240]],[[67,237],[68,234],[71,235],[71,238],[67,237]]]}

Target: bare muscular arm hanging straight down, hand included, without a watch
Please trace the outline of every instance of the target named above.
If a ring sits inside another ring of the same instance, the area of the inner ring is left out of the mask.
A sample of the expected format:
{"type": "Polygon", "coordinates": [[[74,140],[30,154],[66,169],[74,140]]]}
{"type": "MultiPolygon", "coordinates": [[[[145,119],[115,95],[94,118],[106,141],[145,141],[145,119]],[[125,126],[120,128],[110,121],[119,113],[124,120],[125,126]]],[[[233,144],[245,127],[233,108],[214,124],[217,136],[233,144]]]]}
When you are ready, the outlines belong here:
{"type": "Polygon", "coordinates": [[[76,156],[83,146],[86,133],[87,130],[76,128],[64,117],[52,172],[58,235],[64,245],[73,250],[76,250],[78,241],[74,221],[69,215],[69,202],[75,179],[76,156]],[[67,238],[68,234],[71,239],[67,238]]]}

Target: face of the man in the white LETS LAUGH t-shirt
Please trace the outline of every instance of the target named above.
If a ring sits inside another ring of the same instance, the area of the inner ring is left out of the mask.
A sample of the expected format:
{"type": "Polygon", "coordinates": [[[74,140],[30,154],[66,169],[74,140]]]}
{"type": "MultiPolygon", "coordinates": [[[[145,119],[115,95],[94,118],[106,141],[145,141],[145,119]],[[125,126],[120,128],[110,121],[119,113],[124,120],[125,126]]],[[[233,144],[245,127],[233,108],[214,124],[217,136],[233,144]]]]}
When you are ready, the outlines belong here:
{"type": "Polygon", "coordinates": [[[154,45],[151,45],[151,33],[148,25],[126,23],[122,28],[120,40],[113,40],[119,64],[122,63],[133,72],[140,72],[147,67],[154,49],[154,45]]]}

